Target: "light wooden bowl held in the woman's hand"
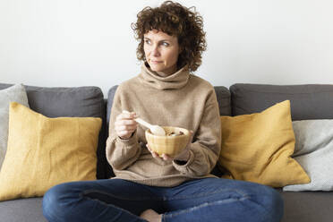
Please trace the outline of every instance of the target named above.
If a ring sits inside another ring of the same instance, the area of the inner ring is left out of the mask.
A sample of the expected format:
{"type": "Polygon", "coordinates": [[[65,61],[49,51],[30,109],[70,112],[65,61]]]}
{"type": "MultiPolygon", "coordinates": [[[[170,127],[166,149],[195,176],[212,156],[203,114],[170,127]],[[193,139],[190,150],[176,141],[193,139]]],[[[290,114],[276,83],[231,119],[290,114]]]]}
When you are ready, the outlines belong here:
{"type": "Polygon", "coordinates": [[[173,126],[162,126],[166,131],[166,136],[154,135],[150,130],[146,130],[146,140],[149,148],[158,153],[161,157],[163,153],[170,158],[175,158],[187,145],[190,140],[190,132],[184,128],[173,126]],[[179,133],[184,132],[182,135],[170,136],[171,132],[179,133]]]}

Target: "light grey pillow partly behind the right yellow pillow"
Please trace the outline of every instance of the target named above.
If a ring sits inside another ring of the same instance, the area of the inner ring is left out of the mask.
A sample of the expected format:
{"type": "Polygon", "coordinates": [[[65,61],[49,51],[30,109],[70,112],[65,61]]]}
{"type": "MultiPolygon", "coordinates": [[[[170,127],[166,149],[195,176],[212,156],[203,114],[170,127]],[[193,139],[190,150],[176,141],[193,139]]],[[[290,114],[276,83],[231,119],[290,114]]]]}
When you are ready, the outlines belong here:
{"type": "Polygon", "coordinates": [[[294,184],[283,191],[333,190],[333,119],[293,122],[295,152],[293,158],[310,176],[309,184],[294,184]]]}

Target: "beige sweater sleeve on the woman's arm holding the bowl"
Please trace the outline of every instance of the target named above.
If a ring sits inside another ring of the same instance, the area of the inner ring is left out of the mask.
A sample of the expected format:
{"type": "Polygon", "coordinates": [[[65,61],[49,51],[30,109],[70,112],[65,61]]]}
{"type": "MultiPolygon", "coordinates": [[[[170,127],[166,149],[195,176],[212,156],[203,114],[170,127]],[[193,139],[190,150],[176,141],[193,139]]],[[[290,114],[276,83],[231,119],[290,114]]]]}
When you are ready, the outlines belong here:
{"type": "Polygon", "coordinates": [[[221,124],[218,100],[212,90],[201,117],[198,130],[194,132],[190,144],[190,158],[184,165],[173,161],[175,169],[181,174],[190,176],[209,175],[218,161],[221,143],[221,124]]]}

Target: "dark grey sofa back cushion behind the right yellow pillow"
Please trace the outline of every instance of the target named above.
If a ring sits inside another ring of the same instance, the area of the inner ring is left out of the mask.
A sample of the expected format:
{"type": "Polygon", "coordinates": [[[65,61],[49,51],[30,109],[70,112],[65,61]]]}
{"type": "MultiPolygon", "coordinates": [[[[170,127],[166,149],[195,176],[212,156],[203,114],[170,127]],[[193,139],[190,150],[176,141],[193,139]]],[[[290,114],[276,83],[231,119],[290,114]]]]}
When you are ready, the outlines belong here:
{"type": "Polygon", "coordinates": [[[293,120],[332,119],[333,85],[234,84],[230,87],[233,115],[258,113],[290,100],[293,120]]]}

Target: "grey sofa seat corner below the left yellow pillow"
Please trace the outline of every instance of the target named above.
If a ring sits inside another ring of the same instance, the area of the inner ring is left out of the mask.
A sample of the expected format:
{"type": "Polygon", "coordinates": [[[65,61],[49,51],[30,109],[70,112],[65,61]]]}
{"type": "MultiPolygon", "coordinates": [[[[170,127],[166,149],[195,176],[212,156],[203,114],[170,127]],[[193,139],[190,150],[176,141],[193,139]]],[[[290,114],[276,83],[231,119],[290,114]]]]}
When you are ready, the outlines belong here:
{"type": "Polygon", "coordinates": [[[43,216],[42,198],[0,202],[0,220],[4,222],[47,222],[43,216]]]}

